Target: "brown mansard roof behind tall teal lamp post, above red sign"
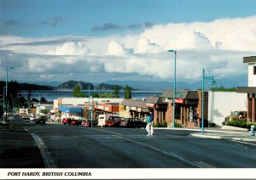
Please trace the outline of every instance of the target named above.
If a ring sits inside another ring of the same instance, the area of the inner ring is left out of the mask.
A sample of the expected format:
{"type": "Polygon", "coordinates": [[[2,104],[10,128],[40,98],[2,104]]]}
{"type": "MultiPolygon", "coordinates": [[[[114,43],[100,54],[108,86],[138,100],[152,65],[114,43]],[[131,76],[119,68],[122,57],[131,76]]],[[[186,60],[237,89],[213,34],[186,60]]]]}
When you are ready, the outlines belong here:
{"type": "MultiPolygon", "coordinates": [[[[164,91],[164,93],[162,94],[162,97],[172,98],[173,91],[172,90],[164,91]]],[[[189,90],[176,91],[176,98],[198,99],[198,93],[197,91],[189,91],[189,90]]]]}

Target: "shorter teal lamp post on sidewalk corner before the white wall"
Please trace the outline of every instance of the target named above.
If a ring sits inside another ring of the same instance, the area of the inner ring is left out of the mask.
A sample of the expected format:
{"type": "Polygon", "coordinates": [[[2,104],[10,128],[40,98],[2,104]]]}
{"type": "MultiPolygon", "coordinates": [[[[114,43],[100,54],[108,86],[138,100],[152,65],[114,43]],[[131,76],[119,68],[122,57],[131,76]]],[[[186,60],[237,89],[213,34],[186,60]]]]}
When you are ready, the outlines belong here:
{"type": "Polygon", "coordinates": [[[214,85],[216,82],[213,76],[206,76],[205,69],[202,69],[202,84],[201,84],[201,134],[204,133],[204,93],[205,93],[205,80],[210,80],[214,85]]]}

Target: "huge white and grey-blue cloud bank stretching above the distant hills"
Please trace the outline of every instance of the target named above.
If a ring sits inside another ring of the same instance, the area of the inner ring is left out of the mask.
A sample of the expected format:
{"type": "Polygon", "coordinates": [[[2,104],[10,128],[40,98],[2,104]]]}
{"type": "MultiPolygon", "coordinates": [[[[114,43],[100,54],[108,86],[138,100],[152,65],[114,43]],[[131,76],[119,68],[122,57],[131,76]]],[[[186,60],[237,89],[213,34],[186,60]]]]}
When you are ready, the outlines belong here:
{"type": "MultiPolygon", "coordinates": [[[[117,28],[108,24],[97,31],[117,28]]],[[[197,82],[201,70],[217,79],[247,81],[242,58],[256,55],[256,16],[212,22],[145,25],[141,33],[108,37],[0,36],[1,79],[15,67],[17,81],[110,80],[197,82]],[[239,79],[240,78],[240,79],[239,79]]]]}

